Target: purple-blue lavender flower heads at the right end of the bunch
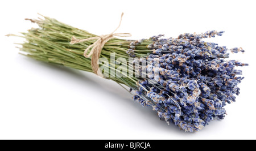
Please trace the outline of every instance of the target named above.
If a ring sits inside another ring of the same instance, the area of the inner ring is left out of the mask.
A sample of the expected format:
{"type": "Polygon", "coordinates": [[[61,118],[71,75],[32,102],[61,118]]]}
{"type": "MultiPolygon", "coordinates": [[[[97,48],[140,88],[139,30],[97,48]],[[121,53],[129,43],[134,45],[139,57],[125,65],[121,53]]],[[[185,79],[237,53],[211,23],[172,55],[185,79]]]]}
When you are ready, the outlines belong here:
{"type": "MultiPolygon", "coordinates": [[[[134,100],[152,106],[161,119],[172,121],[182,130],[201,130],[213,119],[223,119],[226,103],[236,101],[237,85],[243,77],[236,66],[246,63],[230,60],[228,50],[202,38],[221,36],[224,32],[180,34],[177,38],[153,36],[147,48],[147,77],[137,83],[134,100]],[[158,64],[155,64],[158,61],[158,64]],[[150,83],[155,80],[157,83],[150,83]]],[[[132,49],[130,50],[133,52],[132,49]]]]}

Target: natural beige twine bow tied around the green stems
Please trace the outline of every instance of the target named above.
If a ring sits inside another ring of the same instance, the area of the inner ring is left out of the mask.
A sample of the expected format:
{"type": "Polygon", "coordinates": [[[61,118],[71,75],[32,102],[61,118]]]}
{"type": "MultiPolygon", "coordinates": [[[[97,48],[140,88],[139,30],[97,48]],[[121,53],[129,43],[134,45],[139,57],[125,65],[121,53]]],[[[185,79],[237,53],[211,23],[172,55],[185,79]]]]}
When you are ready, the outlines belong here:
{"type": "Polygon", "coordinates": [[[106,42],[108,42],[112,38],[115,38],[114,36],[118,36],[118,37],[130,37],[131,36],[130,33],[114,33],[120,27],[121,22],[122,22],[122,17],[123,17],[123,12],[122,12],[121,20],[119,22],[118,27],[110,34],[104,34],[104,35],[101,35],[98,37],[91,37],[91,38],[86,38],[86,39],[82,39],[82,40],[79,40],[79,39],[75,38],[74,36],[71,38],[71,42],[70,42],[71,45],[77,44],[80,42],[84,42],[84,41],[96,40],[92,45],[88,46],[88,48],[85,49],[84,57],[89,58],[92,55],[92,58],[91,58],[92,70],[98,76],[103,77],[103,75],[101,74],[101,71],[98,71],[98,69],[99,69],[98,59],[100,58],[101,50],[104,47],[104,45],[106,44],[106,42]],[[92,50],[90,50],[90,48],[92,48],[92,50]],[[88,50],[90,50],[89,54],[87,54],[88,50]]]}

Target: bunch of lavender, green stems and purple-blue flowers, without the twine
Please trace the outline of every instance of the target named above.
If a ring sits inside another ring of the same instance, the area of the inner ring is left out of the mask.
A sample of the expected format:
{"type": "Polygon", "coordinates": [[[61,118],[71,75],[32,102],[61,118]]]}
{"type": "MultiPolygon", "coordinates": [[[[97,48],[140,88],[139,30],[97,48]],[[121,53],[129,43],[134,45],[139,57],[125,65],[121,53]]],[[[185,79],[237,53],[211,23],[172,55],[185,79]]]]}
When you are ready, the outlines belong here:
{"type": "MultiPolygon", "coordinates": [[[[85,41],[71,45],[71,37],[90,38],[96,35],[61,23],[56,19],[31,20],[39,25],[22,33],[26,42],[20,44],[23,54],[39,61],[93,72],[90,58],[83,56],[84,49],[93,44],[85,41]]],[[[223,119],[226,103],[236,101],[240,92],[237,85],[243,77],[236,66],[248,66],[229,58],[229,52],[245,52],[242,48],[227,49],[203,38],[222,36],[224,32],[208,31],[202,34],[180,34],[177,38],[152,36],[143,40],[110,39],[102,48],[100,58],[109,64],[104,70],[106,79],[127,85],[133,99],[142,106],[151,106],[160,119],[174,122],[181,130],[199,131],[211,120],[223,119]],[[119,70],[118,59],[125,63],[131,75],[119,70]],[[137,64],[137,66],[136,66],[137,64]],[[145,66],[146,64],[146,66],[145,66]],[[114,75],[109,73],[114,70],[114,75]]],[[[16,36],[9,34],[8,36],[16,36]]]]}

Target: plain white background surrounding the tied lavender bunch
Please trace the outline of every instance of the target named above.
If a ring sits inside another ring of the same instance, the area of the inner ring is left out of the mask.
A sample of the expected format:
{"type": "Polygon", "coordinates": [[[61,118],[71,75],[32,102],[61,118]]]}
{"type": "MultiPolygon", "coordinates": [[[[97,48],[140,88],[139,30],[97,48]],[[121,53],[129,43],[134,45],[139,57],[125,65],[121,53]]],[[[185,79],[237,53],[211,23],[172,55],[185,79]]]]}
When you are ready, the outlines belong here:
{"type": "Polygon", "coordinates": [[[1,1],[0,139],[256,139],[255,1],[1,1]],[[24,18],[56,18],[94,34],[117,32],[131,39],[156,34],[225,31],[207,41],[242,47],[232,59],[243,67],[241,94],[225,107],[224,120],[196,133],[160,121],[113,81],[18,54],[5,34],[36,27],[24,18]]]}

